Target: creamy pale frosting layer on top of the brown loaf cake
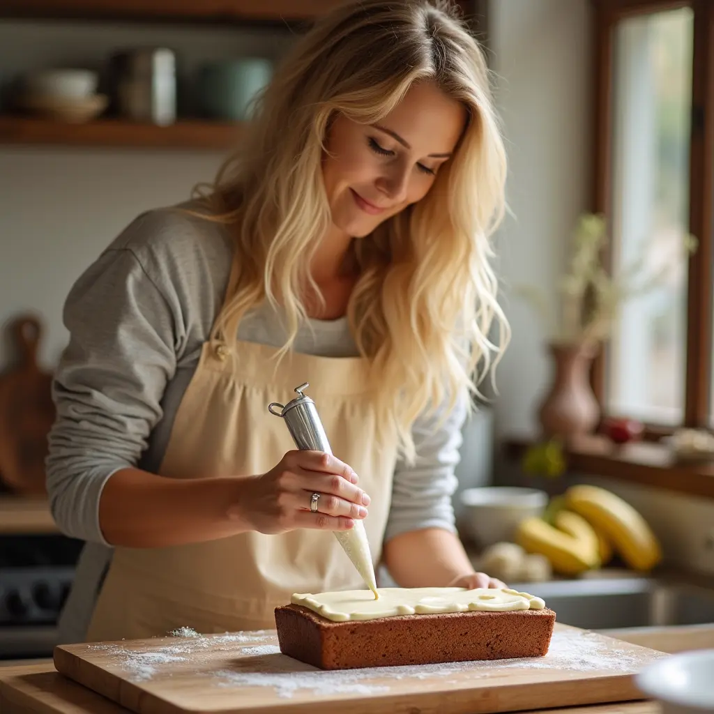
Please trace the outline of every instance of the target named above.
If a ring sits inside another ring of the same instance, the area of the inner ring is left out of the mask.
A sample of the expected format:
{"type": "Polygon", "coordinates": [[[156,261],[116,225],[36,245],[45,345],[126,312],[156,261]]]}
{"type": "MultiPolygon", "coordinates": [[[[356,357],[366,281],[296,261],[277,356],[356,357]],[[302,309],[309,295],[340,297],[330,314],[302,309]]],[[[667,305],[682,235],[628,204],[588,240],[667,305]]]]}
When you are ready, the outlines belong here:
{"type": "Polygon", "coordinates": [[[296,593],[291,603],[310,608],[334,622],[468,610],[504,612],[545,608],[545,602],[540,598],[510,588],[378,588],[378,593],[378,599],[369,590],[318,595],[296,593]]]}

